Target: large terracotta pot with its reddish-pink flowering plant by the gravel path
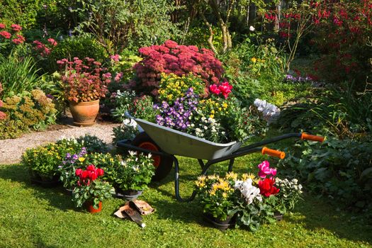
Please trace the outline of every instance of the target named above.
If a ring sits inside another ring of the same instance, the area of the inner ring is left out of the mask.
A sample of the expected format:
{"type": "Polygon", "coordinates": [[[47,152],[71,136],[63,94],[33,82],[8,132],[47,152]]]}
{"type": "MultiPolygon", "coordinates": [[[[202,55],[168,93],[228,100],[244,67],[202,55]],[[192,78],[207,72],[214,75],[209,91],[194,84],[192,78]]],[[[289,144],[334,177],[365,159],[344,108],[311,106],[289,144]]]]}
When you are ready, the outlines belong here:
{"type": "Polygon", "coordinates": [[[73,61],[62,59],[57,64],[64,66],[64,97],[69,101],[74,125],[94,125],[99,99],[106,96],[111,74],[104,73],[101,62],[89,57],[84,60],[74,57],[73,61]]]}

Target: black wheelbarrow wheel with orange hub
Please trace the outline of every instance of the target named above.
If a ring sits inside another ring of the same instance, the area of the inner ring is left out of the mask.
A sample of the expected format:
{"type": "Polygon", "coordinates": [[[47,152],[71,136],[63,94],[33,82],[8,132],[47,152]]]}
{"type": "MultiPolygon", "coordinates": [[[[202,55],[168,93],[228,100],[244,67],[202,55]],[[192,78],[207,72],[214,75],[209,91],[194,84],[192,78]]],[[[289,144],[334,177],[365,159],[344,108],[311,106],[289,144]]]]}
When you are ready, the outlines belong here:
{"type": "MultiPolygon", "coordinates": [[[[147,150],[162,152],[160,147],[145,132],[137,135],[131,145],[147,150]]],[[[171,159],[171,157],[154,154],[152,155],[152,159],[154,159],[154,167],[156,168],[155,174],[152,176],[152,181],[160,181],[169,174],[169,171],[171,171],[173,159],[171,159]]]]}

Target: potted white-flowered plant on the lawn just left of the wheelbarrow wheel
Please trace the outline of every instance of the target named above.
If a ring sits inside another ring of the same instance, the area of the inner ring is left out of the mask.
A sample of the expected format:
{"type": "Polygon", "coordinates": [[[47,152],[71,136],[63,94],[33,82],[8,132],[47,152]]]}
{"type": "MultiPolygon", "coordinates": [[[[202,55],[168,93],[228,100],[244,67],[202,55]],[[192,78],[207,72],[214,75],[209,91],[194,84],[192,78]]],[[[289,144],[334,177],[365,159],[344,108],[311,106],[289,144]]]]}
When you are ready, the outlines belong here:
{"type": "Polygon", "coordinates": [[[120,166],[116,169],[117,196],[122,196],[128,201],[140,196],[154,176],[154,171],[151,154],[137,155],[130,151],[128,157],[120,162],[120,166]]]}

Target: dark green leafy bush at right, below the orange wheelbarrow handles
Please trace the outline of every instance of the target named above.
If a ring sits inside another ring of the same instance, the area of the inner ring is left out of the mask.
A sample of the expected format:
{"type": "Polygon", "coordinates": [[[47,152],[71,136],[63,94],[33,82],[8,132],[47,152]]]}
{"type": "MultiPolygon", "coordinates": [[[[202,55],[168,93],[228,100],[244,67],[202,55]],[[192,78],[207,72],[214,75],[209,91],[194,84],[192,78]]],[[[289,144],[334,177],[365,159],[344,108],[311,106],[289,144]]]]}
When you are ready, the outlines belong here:
{"type": "MultiPolygon", "coordinates": [[[[298,176],[314,193],[332,202],[371,210],[371,179],[363,171],[372,167],[372,143],[328,138],[324,145],[303,143],[302,154],[290,154],[278,167],[298,176]]],[[[365,172],[366,174],[366,172],[365,172]]]]}

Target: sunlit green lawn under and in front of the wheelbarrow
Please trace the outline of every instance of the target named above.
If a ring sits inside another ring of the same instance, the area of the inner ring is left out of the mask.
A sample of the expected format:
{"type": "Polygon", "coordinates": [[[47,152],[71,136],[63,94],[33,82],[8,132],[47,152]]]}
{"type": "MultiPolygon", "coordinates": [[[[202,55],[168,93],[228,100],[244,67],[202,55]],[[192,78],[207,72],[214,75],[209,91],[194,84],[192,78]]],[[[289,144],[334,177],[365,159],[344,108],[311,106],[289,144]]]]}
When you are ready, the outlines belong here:
{"type": "MultiPolygon", "coordinates": [[[[239,158],[234,171],[256,171],[261,160],[258,154],[239,158]]],[[[181,196],[188,196],[200,169],[193,159],[180,164],[181,196]]],[[[227,163],[213,167],[226,168],[227,163]]],[[[315,196],[305,196],[295,213],[258,232],[221,232],[203,223],[197,201],[175,200],[173,173],[140,197],[157,210],[145,216],[141,229],[113,217],[124,203],[120,199],[104,201],[101,213],[89,214],[74,208],[62,187],[34,186],[26,167],[1,165],[0,247],[372,247],[372,227],[363,216],[336,211],[315,196]]]]}

